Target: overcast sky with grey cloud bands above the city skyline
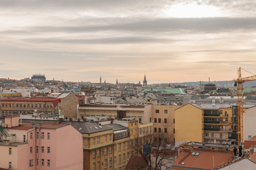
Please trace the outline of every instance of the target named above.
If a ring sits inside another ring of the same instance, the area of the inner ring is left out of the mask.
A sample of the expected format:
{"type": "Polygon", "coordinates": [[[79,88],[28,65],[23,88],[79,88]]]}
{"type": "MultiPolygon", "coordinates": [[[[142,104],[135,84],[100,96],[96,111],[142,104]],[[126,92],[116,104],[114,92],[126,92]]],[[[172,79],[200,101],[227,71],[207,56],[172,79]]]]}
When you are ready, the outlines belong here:
{"type": "Polygon", "coordinates": [[[1,0],[0,78],[138,83],[146,74],[148,83],[168,83],[232,80],[238,67],[256,74],[255,7],[251,0],[1,0]]]}

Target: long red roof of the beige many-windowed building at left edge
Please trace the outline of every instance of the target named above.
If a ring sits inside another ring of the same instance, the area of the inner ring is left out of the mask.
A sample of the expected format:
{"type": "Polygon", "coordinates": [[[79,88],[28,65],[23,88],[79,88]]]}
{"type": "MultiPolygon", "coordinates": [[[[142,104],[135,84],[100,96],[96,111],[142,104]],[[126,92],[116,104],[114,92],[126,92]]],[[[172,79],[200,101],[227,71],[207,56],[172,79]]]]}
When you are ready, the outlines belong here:
{"type": "Polygon", "coordinates": [[[1,101],[51,101],[54,107],[56,107],[61,100],[56,99],[54,97],[22,97],[22,98],[9,97],[1,101]]]}

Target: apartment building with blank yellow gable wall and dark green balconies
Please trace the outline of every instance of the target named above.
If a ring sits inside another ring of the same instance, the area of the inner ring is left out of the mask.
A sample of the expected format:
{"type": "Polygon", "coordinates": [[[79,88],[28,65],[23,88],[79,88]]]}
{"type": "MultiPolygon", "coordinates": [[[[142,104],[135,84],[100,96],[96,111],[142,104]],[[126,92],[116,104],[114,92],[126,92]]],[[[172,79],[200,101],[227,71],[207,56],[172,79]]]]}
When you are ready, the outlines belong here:
{"type": "MultiPolygon", "coordinates": [[[[175,142],[235,144],[237,142],[236,103],[192,103],[175,110],[175,142]]],[[[254,104],[244,104],[246,109],[254,104]]],[[[246,113],[245,113],[246,114],[246,113]]],[[[245,125],[245,122],[243,122],[245,125]]],[[[250,125],[253,126],[252,122],[250,125]]]]}

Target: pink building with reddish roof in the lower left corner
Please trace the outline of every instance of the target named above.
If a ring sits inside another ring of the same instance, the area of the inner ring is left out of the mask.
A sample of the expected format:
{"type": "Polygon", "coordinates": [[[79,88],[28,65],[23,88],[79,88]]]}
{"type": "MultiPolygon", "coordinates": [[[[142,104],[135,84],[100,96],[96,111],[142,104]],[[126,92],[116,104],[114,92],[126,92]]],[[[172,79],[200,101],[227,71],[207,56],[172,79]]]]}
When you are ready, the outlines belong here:
{"type": "Polygon", "coordinates": [[[0,168],[83,169],[82,134],[71,125],[18,121],[6,117],[2,125],[0,168]]]}

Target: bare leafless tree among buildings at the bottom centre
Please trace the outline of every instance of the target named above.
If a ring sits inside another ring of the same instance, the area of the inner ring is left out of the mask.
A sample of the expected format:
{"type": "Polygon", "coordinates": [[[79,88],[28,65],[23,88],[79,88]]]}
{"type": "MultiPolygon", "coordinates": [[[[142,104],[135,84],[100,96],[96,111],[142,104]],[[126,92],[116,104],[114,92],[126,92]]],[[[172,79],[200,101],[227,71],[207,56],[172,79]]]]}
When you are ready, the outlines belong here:
{"type": "Polygon", "coordinates": [[[146,134],[141,138],[136,138],[131,147],[136,154],[143,156],[146,168],[151,169],[171,169],[176,156],[172,154],[170,145],[164,141],[164,133],[146,134]]]}

